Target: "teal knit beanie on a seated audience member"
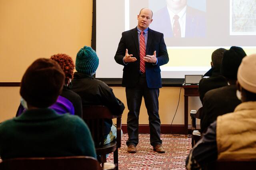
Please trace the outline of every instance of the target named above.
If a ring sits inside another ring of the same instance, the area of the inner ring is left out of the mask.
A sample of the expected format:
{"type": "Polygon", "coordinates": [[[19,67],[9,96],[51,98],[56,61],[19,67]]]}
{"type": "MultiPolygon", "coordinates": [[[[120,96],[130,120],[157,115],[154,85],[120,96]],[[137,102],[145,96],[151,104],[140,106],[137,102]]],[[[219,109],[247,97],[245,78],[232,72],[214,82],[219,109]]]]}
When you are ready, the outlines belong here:
{"type": "Polygon", "coordinates": [[[99,58],[91,47],[84,46],[76,54],[76,71],[92,74],[95,73],[98,65],[99,58]]]}

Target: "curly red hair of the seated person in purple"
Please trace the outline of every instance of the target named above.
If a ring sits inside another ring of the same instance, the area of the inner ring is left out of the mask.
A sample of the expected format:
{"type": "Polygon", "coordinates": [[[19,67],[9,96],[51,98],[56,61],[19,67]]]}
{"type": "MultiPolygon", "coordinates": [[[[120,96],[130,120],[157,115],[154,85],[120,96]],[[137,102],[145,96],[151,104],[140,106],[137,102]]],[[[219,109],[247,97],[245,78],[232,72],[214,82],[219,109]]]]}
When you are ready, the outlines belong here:
{"type": "Polygon", "coordinates": [[[61,69],[65,73],[65,83],[68,83],[69,79],[73,79],[74,75],[74,61],[67,54],[55,54],[51,56],[51,59],[59,63],[61,69]]]}

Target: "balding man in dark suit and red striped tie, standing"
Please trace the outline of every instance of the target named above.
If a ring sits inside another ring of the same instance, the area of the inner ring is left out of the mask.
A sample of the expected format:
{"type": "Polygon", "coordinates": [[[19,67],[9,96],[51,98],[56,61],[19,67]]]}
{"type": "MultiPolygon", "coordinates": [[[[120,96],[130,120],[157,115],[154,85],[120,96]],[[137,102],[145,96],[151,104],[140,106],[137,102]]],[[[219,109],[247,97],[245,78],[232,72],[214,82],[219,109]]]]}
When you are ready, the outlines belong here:
{"type": "Polygon", "coordinates": [[[122,86],[126,87],[128,105],[127,152],[135,153],[138,144],[138,120],[140,105],[144,97],[149,116],[150,144],[158,153],[164,153],[160,139],[160,118],[158,114],[159,88],[162,87],[160,65],[168,63],[169,57],[164,35],[151,30],[153,12],[148,8],[140,10],[138,26],[122,33],[115,60],[124,65],[122,86]]]}

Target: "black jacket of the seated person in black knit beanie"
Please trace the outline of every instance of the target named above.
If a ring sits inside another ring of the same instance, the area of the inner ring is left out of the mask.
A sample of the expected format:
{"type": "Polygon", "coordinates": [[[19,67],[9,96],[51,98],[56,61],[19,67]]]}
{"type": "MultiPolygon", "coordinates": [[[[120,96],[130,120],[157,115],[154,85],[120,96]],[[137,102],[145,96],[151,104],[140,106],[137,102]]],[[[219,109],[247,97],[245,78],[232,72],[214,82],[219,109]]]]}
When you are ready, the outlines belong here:
{"type": "Polygon", "coordinates": [[[227,85],[208,91],[204,96],[201,132],[204,132],[217,117],[234,112],[241,101],[236,97],[236,85],[227,85]]]}

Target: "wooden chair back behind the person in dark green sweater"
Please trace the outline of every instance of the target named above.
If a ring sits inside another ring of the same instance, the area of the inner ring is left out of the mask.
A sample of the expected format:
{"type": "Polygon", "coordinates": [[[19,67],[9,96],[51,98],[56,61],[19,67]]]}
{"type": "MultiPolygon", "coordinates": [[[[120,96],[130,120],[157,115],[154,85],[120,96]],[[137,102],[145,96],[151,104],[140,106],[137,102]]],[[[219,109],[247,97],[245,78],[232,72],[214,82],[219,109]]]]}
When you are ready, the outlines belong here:
{"type": "Polygon", "coordinates": [[[90,156],[14,158],[0,163],[0,170],[102,170],[90,156]]]}

